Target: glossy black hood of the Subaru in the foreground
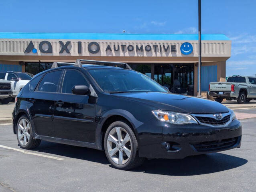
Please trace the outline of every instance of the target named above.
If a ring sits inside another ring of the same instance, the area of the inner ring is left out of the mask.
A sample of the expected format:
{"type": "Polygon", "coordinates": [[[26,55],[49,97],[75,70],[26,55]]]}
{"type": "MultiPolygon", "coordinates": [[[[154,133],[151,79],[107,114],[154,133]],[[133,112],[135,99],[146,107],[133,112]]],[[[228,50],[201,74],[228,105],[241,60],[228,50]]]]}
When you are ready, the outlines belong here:
{"type": "Polygon", "coordinates": [[[171,94],[164,92],[118,93],[113,96],[142,102],[159,110],[192,114],[223,113],[228,108],[222,104],[204,98],[171,94]]]}

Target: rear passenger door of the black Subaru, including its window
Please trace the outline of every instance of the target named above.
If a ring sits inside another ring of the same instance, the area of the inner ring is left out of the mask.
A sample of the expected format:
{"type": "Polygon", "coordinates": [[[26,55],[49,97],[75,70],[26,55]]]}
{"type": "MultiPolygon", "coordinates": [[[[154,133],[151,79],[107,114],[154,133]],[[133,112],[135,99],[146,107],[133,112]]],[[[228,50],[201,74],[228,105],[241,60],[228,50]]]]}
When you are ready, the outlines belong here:
{"type": "Polygon", "coordinates": [[[33,94],[27,96],[32,103],[29,110],[37,135],[54,136],[53,113],[62,72],[54,70],[44,74],[33,94]]]}

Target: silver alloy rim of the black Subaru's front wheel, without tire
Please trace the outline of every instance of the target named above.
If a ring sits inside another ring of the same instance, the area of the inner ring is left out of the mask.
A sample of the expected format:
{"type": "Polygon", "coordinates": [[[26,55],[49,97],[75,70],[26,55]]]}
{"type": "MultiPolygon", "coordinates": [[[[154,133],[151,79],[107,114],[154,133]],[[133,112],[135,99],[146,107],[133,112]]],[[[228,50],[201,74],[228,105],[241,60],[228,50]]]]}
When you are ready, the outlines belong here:
{"type": "Polygon", "coordinates": [[[130,159],[132,142],[129,134],[122,127],[114,127],[108,134],[108,155],[118,165],[130,159]]]}

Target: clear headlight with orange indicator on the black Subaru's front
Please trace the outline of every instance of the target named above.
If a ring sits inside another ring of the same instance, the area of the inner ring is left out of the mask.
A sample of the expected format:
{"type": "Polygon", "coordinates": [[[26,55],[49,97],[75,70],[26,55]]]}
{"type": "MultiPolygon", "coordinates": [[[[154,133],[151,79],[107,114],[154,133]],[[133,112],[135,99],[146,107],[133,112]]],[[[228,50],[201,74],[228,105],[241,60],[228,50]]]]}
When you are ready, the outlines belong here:
{"type": "Polygon", "coordinates": [[[169,122],[172,124],[189,124],[196,123],[197,121],[189,114],[165,112],[165,111],[152,111],[154,116],[161,121],[169,122]]]}

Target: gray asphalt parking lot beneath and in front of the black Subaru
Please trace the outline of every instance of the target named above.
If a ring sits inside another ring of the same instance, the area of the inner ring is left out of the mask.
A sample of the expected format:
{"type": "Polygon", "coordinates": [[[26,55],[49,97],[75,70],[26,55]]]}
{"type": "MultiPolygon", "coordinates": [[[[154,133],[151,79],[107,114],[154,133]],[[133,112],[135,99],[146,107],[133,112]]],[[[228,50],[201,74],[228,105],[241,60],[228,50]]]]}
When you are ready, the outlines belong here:
{"type": "Polygon", "coordinates": [[[13,150],[20,148],[12,125],[0,125],[0,191],[255,191],[256,118],[241,122],[241,148],[146,160],[130,171],[112,168],[104,152],[89,148],[42,142],[13,150]]]}

